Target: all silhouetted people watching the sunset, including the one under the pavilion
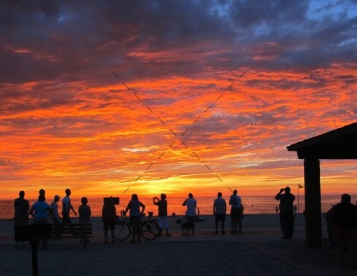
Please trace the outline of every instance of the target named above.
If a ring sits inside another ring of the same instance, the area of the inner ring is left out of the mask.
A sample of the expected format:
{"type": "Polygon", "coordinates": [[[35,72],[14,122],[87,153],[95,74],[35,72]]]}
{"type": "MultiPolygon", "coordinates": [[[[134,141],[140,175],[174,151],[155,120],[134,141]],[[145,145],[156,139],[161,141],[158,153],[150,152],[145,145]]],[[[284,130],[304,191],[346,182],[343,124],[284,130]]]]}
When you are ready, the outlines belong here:
{"type": "MultiPolygon", "coordinates": [[[[25,199],[25,191],[20,191],[19,198],[14,200],[14,232],[15,232],[15,244],[16,247],[23,247],[23,242],[20,239],[21,226],[29,225],[29,215],[33,216],[34,223],[48,223],[52,221],[55,226],[54,236],[61,235],[61,229],[65,225],[71,224],[70,212],[73,212],[77,216],[76,210],[71,204],[71,190],[67,188],[65,190],[64,198],[62,199],[62,218],[59,216],[58,202],[61,198],[59,195],[53,197],[53,201],[50,205],[45,202],[45,190],[41,189],[38,192],[38,200],[30,207],[29,201],[25,199]]],[[[281,231],[283,233],[282,239],[291,239],[294,231],[294,205],[295,195],[290,191],[290,187],[281,188],[279,193],[275,195],[275,199],[279,200],[279,214],[281,231]]],[[[81,205],[78,207],[78,221],[80,223],[90,223],[91,209],[87,204],[86,197],[81,198],[81,205]]],[[[230,233],[242,233],[242,219],[244,216],[244,206],[241,197],[238,195],[237,190],[232,191],[228,204],[230,205],[230,233]]],[[[160,195],[160,198],[153,197],[153,205],[158,207],[158,226],[159,236],[165,230],[167,237],[169,233],[169,223],[167,218],[167,196],[165,193],[160,195]]],[[[186,216],[181,225],[183,235],[195,235],[195,222],[199,212],[197,214],[197,200],[193,197],[192,193],[188,193],[183,203],[183,207],[186,207],[186,216]]],[[[137,194],[133,194],[130,202],[128,202],[126,209],[122,212],[123,215],[130,211],[130,225],[132,228],[132,240],[140,240],[141,235],[141,216],[144,213],[145,205],[139,201],[137,194]]],[[[215,234],[218,234],[218,228],[221,225],[221,233],[225,234],[225,220],[227,214],[227,203],[222,196],[221,192],[218,192],[217,198],[213,203],[213,214],[215,220],[215,234]]],[[[116,228],[116,207],[113,204],[112,198],[106,198],[104,206],[102,208],[102,221],[104,226],[104,241],[108,242],[108,233],[111,230],[111,242],[115,241],[114,230],[116,228]]],[[[326,219],[328,221],[328,229],[330,229],[330,240],[333,244],[336,244],[340,249],[339,265],[343,262],[343,253],[346,249],[352,248],[352,244],[357,242],[357,207],[351,203],[351,196],[348,194],[342,195],[341,202],[333,206],[327,213],[326,219]]],[[[43,240],[43,247],[47,246],[46,240],[43,240]]],[[[354,260],[356,263],[356,251],[354,260]]]]}

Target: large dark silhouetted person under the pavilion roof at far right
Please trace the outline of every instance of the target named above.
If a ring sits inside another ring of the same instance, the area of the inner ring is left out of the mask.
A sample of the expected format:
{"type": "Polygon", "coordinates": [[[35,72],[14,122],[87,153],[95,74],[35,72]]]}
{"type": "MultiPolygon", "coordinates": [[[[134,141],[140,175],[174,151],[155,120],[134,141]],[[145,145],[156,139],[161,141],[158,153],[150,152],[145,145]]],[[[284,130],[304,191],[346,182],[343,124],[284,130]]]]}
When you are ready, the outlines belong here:
{"type": "Polygon", "coordinates": [[[351,249],[353,254],[353,267],[357,265],[356,251],[353,244],[357,243],[357,207],[351,203],[351,196],[344,193],[341,202],[334,205],[326,214],[332,222],[332,241],[339,251],[338,265],[342,266],[344,251],[351,249]]]}

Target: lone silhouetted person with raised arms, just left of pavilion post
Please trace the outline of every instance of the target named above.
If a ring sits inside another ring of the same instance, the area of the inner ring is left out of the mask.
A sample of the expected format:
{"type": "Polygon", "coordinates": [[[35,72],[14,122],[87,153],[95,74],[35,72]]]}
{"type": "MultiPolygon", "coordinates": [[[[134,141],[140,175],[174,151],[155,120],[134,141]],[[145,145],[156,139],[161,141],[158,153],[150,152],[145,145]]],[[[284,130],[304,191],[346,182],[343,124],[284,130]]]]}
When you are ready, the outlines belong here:
{"type": "Polygon", "coordinates": [[[280,228],[283,231],[282,239],[291,239],[294,232],[294,206],[295,195],[290,193],[290,187],[281,188],[275,195],[276,200],[280,200],[280,228]],[[283,193],[284,192],[284,193],[283,193]]]}

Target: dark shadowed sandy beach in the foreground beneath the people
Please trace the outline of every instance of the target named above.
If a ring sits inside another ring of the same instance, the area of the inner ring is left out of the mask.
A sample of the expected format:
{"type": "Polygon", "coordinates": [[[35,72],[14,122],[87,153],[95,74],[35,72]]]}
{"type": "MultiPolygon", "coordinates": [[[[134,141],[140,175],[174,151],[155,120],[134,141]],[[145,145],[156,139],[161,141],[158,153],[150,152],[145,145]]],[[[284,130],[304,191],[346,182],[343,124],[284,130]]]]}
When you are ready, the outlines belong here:
{"type": "MultiPolygon", "coordinates": [[[[215,235],[214,217],[205,216],[195,236],[182,236],[177,219],[169,218],[170,237],[105,244],[102,221],[93,218],[87,249],[75,239],[38,249],[38,275],[356,275],[356,268],[337,267],[334,251],[305,247],[300,214],[292,240],[281,240],[276,214],[246,215],[243,233],[235,235],[229,217],[225,235],[215,235]]],[[[0,220],[0,250],[1,275],[32,275],[31,247],[14,247],[11,220],[0,220]]]]}

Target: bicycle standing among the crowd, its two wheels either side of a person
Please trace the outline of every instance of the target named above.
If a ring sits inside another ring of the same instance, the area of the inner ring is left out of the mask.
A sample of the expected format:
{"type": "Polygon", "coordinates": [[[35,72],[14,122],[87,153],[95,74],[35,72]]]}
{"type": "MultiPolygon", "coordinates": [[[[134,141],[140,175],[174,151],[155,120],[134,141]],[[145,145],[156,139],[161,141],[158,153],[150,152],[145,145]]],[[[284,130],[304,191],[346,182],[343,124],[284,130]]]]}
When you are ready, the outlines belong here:
{"type": "MultiPolygon", "coordinates": [[[[155,240],[159,236],[159,225],[157,219],[151,219],[153,212],[148,212],[148,219],[145,219],[145,213],[141,214],[141,228],[140,234],[145,240],[155,240]]],[[[130,219],[127,216],[117,216],[116,230],[114,238],[116,240],[127,240],[132,234],[132,227],[130,226],[130,219]]]]}

